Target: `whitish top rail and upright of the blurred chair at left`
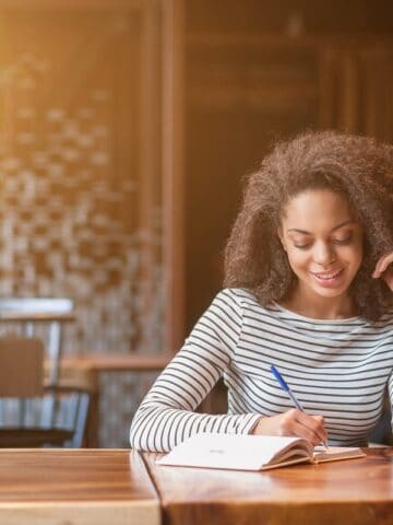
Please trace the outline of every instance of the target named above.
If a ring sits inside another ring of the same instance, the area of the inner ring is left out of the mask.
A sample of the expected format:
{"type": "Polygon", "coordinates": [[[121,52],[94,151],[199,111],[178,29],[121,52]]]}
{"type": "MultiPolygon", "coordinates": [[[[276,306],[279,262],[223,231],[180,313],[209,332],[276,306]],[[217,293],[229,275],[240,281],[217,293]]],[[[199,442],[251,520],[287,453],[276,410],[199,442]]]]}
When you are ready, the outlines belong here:
{"type": "Polygon", "coordinates": [[[37,325],[48,325],[49,385],[59,378],[62,324],[75,319],[73,301],[67,298],[0,298],[0,323],[17,325],[20,334],[33,337],[37,325]]]}

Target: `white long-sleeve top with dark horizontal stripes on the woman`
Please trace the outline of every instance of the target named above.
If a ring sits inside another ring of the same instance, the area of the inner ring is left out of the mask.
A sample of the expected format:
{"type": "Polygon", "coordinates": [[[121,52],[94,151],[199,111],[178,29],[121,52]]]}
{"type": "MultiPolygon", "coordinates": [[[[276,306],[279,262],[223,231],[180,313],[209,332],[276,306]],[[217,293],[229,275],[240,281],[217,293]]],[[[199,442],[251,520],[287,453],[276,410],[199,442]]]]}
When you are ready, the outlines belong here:
{"type": "Polygon", "coordinates": [[[364,445],[386,387],[393,400],[393,313],[310,319],[243,290],[219,292],[141,404],[131,446],[167,452],[196,432],[245,434],[261,416],[294,408],[272,364],[307,413],[324,417],[330,444],[364,445]],[[219,377],[228,412],[193,412],[219,377]]]}

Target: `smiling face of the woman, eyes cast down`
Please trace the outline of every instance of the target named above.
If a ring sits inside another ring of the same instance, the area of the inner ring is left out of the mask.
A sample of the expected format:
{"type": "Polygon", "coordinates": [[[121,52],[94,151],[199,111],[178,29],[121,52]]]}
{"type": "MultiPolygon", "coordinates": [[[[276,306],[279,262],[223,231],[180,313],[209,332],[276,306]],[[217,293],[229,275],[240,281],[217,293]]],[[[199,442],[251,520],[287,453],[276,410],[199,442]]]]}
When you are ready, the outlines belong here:
{"type": "Polygon", "coordinates": [[[327,189],[298,194],[284,209],[278,235],[298,278],[295,298],[348,296],[362,260],[362,231],[343,195],[327,189]]]}

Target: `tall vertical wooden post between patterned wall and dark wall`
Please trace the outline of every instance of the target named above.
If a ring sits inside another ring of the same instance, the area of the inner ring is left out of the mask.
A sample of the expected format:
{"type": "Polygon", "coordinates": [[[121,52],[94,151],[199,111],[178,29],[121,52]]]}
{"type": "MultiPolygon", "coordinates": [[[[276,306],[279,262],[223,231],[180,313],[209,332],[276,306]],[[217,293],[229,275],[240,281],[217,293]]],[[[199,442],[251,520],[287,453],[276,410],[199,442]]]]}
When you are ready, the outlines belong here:
{"type": "Polygon", "coordinates": [[[163,0],[163,202],[165,340],[167,350],[184,337],[184,5],[163,0]]]}

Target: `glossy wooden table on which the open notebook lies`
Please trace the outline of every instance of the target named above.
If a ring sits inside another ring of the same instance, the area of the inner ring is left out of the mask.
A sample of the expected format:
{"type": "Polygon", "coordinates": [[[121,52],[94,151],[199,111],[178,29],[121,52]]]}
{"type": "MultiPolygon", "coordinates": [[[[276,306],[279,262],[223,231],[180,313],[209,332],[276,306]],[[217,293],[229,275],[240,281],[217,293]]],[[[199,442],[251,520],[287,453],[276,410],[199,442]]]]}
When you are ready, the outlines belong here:
{"type": "Polygon", "coordinates": [[[144,454],[165,525],[392,525],[392,448],[264,472],[164,467],[144,454]]]}

